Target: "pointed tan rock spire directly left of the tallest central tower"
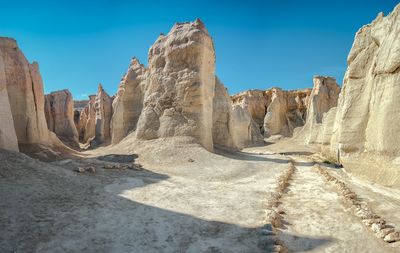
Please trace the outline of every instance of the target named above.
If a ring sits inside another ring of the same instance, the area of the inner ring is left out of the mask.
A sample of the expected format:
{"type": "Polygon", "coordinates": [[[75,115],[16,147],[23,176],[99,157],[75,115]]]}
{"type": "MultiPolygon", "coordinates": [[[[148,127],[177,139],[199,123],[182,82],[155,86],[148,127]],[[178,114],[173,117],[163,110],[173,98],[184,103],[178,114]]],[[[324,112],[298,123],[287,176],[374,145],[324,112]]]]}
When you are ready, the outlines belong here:
{"type": "Polygon", "coordinates": [[[133,58],[112,104],[114,113],[111,120],[111,139],[113,144],[120,142],[129,132],[136,130],[143,109],[147,73],[148,71],[139,63],[139,60],[133,58]]]}

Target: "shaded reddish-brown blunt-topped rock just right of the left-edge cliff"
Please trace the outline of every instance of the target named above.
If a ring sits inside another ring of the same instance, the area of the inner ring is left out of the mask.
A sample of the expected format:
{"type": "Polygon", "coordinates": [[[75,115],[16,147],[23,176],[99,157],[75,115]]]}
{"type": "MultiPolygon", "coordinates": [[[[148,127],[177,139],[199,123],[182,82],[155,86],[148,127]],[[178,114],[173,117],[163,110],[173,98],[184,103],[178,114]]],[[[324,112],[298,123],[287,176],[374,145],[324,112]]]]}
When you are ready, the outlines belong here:
{"type": "Polygon", "coordinates": [[[47,127],[64,143],[77,146],[78,131],[74,123],[73,98],[68,90],[55,91],[45,96],[47,127]]]}

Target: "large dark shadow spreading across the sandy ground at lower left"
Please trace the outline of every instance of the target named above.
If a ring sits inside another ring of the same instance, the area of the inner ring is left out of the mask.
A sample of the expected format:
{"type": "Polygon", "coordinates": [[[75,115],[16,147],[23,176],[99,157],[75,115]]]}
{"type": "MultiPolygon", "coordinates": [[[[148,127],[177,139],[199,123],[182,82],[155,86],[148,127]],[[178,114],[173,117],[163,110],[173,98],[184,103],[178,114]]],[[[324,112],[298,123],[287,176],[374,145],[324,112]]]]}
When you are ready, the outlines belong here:
{"type": "MultiPolygon", "coordinates": [[[[1,252],[269,252],[273,247],[260,228],[206,220],[123,195],[134,196],[135,189],[167,175],[102,168],[79,174],[73,163],[49,165],[18,153],[3,154],[1,252]]],[[[171,202],[176,197],[158,194],[171,202]]],[[[299,249],[327,242],[282,233],[298,242],[299,249]]]]}

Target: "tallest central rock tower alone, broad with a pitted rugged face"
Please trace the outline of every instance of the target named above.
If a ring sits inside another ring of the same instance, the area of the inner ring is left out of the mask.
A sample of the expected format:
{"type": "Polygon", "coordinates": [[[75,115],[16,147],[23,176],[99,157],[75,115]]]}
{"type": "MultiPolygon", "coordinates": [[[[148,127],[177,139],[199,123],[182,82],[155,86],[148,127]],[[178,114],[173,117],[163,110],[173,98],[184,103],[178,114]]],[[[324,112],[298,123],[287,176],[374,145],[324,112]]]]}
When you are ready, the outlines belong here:
{"type": "Polygon", "coordinates": [[[199,19],[160,35],[149,50],[149,83],[136,137],[190,136],[213,150],[214,70],[213,42],[199,19]]]}

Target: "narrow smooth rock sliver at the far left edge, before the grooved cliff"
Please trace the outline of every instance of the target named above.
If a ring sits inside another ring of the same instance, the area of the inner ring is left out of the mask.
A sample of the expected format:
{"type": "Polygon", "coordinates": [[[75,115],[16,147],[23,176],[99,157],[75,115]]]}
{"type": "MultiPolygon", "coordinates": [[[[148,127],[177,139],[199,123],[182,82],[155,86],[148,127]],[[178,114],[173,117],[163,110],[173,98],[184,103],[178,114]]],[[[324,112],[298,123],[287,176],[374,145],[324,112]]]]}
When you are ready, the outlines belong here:
{"type": "Polygon", "coordinates": [[[1,50],[3,43],[7,41],[0,38],[0,148],[18,151],[18,140],[6,86],[6,66],[3,61],[3,50],[1,50]]]}

